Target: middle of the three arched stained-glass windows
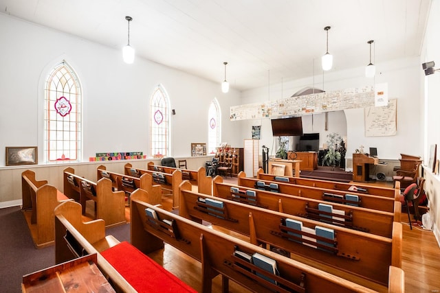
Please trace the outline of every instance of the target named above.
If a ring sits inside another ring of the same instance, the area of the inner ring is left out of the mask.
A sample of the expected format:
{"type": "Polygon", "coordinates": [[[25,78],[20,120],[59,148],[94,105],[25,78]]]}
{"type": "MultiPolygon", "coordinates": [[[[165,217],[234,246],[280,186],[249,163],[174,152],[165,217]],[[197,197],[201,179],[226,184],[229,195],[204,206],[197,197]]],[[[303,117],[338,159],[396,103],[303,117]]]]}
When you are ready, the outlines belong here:
{"type": "Polygon", "coordinates": [[[151,156],[170,156],[170,101],[163,86],[156,86],[150,101],[151,156]]]}

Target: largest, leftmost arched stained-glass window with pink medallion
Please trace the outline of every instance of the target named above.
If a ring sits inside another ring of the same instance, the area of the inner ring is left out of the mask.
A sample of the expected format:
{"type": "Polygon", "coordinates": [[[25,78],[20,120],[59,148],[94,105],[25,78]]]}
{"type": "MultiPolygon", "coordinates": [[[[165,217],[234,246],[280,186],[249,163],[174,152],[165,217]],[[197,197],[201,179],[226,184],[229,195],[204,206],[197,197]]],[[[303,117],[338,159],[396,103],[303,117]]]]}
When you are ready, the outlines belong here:
{"type": "Polygon", "coordinates": [[[46,163],[80,161],[81,85],[78,76],[63,60],[45,82],[46,163]]]}

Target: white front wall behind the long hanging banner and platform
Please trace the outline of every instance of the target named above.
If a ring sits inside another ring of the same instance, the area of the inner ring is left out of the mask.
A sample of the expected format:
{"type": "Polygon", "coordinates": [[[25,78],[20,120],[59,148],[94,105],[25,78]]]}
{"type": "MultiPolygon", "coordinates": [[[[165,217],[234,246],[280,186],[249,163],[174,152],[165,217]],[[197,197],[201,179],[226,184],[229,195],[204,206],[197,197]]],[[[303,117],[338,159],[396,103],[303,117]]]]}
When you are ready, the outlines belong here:
{"type": "MultiPolygon", "coordinates": [[[[337,57],[335,56],[335,58],[337,57]]],[[[397,99],[397,134],[391,137],[365,137],[364,109],[344,110],[347,119],[347,158],[351,158],[351,154],[360,145],[364,145],[366,152],[368,152],[369,147],[377,148],[380,159],[399,159],[401,153],[423,156],[423,133],[421,133],[420,117],[420,75],[423,73],[421,72],[419,57],[392,60],[382,64],[376,63],[376,69],[377,73],[374,79],[365,78],[364,67],[360,67],[346,71],[333,69],[325,75],[321,74],[302,80],[287,81],[283,84],[274,83],[270,85],[270,98],[266,86],[244,91],[241,93],[241,102],[242,104],[252,104],[281,99],[281,97],[286,98],[307,86],[333,91],[387,82],[389,98],[397,99]],[[393,145],[393,148],[390,145],[393,145]]],[[[323,115],[315,115],[314,130],[316,128],[321,129],[322,117],[323,115]]],[[[331,113],[329,113],[329,128],[327,132],[320,135],[321,145],[327,140],[327,134],[330,132],[338,132],[343,136],[344,128],[341,129],[338,126],[342,119],[331,121],[331,117],[331,113]]],[[[250,132],[250,124],[261,124],[262,144],[272,145],[270,119],[242,121],[243,128],[241,131],[250,132]]],[[[311,116],[306,116],[303,119],[303,128],[305,132],[312,129],[311,116]]]]}

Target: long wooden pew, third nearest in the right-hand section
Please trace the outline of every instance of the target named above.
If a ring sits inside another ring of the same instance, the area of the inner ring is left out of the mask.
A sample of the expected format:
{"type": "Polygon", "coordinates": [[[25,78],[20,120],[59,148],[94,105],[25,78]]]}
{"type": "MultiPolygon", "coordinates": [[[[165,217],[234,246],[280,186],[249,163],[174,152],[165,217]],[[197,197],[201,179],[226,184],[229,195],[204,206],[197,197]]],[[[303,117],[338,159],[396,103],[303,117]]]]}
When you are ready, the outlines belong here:
{"type": "Polygon", "coordinates": [[[239,187],[219,181],[216,178],[213,185],[213,195],[216,197],[320,222],[330,222],[374,235],[391,237],[393,222],[400,222],[400,202],[394,202],[395,212],[391,213],[314,198],[279,194],[251,187],[239,187]]]}

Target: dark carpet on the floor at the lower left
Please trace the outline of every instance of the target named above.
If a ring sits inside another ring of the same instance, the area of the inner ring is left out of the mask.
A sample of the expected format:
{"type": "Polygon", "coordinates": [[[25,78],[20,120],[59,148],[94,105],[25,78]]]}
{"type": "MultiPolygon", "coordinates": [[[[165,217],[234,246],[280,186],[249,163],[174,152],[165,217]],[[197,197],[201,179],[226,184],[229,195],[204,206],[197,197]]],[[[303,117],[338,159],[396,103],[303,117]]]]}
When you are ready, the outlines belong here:
{"type": "MultiPolygon", "coordinates": [[[[21,292],[24,274],[55,265],[55,247],[36,249],[20,207],[0,209],[0,292],[21,292]]],[[[107,235],[130,241],[130,225],[108,228],[107,235]]]]}

